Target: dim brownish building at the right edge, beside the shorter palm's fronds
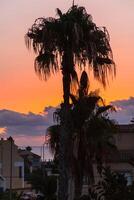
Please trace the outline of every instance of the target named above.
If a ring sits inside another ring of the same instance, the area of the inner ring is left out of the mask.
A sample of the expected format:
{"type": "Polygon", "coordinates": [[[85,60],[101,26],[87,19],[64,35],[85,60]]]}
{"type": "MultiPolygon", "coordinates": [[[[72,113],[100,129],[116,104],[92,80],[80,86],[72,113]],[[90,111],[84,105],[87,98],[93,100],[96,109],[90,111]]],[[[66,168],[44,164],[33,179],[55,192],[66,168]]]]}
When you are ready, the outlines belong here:
{"type": "Polygon", "coordinates": [[[115,154],[109,162],[112,170],[125,174],[128,183],[134,181],[134,125],[119,125],[119,133],[115,135],[115,144],[118,153],[115,154]]]}

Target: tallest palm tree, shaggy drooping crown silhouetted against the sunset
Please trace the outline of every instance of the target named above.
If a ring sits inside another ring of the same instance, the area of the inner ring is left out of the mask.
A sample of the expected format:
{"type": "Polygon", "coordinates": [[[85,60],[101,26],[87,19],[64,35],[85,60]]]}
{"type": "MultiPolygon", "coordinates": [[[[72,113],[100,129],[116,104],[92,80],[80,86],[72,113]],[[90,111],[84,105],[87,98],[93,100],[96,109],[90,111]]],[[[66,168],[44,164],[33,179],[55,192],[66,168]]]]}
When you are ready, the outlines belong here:
{"type": "Polygon", "coordinates": [[[93,69],[94,77],[104,86],[115,64],[106,28],[99,28],[84,7],[73,5],[66,13],[57,9],[57,18],[38,18],[26,34],[37,57],[35,71],[43,79],[61,69],[63,76],[62,128],[60,131],[59,199],[67,199],[69,95],[71,83],[77,83],[76,66],[93,69]]]}

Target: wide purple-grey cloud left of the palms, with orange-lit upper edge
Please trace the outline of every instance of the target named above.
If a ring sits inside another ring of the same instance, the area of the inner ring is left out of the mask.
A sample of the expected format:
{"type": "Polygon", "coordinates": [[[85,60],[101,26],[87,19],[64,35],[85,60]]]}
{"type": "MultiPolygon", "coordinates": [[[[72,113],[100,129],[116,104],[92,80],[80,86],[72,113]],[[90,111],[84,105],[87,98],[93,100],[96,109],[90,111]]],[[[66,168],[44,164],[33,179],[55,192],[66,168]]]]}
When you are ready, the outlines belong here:
{"type": "Polygon", "coordinates": [[[55,107],[46,107],[42,113],[28,114],[12,110],[0,110],[1,135],[6,136],[42,136],[48,126],[53,124],[55,107]]]}

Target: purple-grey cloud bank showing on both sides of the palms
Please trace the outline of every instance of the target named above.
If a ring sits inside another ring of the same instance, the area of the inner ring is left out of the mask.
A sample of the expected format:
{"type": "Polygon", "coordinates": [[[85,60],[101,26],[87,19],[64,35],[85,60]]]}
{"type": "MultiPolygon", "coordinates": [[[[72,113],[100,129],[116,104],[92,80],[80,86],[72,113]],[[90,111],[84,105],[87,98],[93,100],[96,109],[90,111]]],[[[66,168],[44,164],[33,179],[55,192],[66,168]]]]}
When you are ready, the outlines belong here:
{"type": "MultiPolygon", "coordinates": [[[[134,117],[134,97],[129,99],[111,102],[117,107],[117,112],[110,114],[110,117],[120,124],[130,123],[134,117]]],[[[52,125],[55,107],[45,107],[42,113],[28,114],[19,113],[11,110],[0,110],[0,131],[7,136],[25,137],[42,136],[48,126],[52,125]]]]}

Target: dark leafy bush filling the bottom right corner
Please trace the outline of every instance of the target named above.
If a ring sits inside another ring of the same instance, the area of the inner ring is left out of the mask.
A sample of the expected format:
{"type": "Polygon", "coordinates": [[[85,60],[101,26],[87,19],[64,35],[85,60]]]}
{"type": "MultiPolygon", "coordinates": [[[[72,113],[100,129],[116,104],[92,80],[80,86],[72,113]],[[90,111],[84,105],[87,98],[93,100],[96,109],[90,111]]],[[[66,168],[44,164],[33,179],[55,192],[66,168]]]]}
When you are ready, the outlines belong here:
{"type": "Polygon", "coordinates": [[[134,184],[128,185],[123,174],[104,168],[102,179],[90,191],[92,200],[133,200],[134,184]]]}

